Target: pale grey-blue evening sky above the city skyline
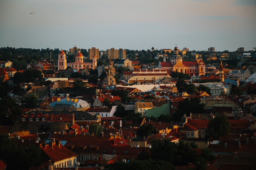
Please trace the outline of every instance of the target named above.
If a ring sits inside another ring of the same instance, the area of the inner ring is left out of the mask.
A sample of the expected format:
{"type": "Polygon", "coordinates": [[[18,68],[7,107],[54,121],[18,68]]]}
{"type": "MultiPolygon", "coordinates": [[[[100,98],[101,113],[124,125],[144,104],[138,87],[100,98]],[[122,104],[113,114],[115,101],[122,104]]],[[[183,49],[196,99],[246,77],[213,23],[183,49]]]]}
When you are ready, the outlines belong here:
{"type": "Polygon", "coordinates": [[[253,50],[256,1],[0,1],[0,47],[160,50],[176,45],[253,50]]]}

